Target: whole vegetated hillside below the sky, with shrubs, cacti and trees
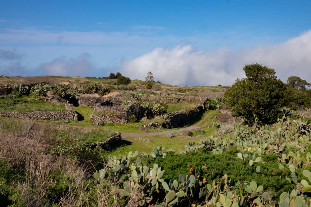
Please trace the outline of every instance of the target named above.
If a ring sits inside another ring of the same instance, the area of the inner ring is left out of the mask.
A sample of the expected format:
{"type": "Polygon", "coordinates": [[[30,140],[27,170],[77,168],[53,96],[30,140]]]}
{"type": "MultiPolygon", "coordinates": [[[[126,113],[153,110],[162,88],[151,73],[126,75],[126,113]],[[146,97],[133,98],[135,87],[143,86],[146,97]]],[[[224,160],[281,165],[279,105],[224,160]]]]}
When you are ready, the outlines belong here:
{"type": "Polygon", "coordinates": [[[1,76],[1,112],[71,107],[76,115],[0,118],[0,205],[311,206],[310,84],[283,83],[259,64],[244,72],[231,87],[171,86],[151,71],[145,82],[120,73],[1,76]],[[80,105],[82,94],[98,104],[80,105]],[[129,106],[142,115],[109,122],[129,106]],[[169,128],[171,115],[192,118],[169,128]],[[87,145],[118,132],[109,149],[87,145]]]}

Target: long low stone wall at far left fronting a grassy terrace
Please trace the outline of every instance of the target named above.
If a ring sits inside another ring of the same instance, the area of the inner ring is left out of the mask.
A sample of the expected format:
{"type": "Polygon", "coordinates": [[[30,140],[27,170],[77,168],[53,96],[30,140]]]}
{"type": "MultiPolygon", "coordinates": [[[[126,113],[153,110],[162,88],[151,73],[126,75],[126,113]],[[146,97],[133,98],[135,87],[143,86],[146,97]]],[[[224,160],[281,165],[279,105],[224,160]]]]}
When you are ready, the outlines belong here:
{"type": "Polygon", "coordinates": [[[67,104],[65,106],[66,111],[0,112],[0,116],[31,120],[75,120],[77,118],[75,110],[67,104]]]}

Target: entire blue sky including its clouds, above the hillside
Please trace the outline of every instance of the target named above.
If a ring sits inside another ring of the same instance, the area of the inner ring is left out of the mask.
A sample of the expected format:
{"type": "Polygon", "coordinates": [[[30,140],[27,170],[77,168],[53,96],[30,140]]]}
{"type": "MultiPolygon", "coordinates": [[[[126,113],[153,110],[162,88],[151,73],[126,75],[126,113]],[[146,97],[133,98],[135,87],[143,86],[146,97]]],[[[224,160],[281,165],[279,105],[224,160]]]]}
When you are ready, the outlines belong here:
{"type": "Polygon", "coordinates": [[[0,74],[102,77],[122,71],[143,79],[152,70],[167,83],[230,85],[244,75],[243,65],[258,61],[282,80],[292,72],[311,81],[311,1],[1,5],[0,74]]]}

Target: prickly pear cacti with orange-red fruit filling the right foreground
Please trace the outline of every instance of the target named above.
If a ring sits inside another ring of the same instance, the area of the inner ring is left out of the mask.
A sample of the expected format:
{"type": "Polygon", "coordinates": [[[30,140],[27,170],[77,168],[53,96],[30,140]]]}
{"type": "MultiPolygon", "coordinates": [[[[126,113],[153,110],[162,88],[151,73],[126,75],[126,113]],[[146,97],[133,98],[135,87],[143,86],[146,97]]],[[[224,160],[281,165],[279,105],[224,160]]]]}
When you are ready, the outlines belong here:
{"type": "Polygon", "coordinates": [[[187,175],[178,173],[178,180],[164,180],[165,170],[157,164],[150,167],[142,162],[143,156],[165,159],[162,147],[154,148],[150,154],[136,151],[122,158],[109,157],[107,166],[94,173],[94,178],[96,182],[100,182],[106,179],[105,176],[109,172],[114,173],[114,179],[118,180],[118,196],[127,200],[133,192],[138,192],[142,195],[138,202],[140,206],[189,206],[194,203],[198,207],[310,206],[311,173],[304,169],[303,175],[306,179],[301,180],[298,180],[296,175],[297,169],[303,169],[311,161],[311,153],[306,152],[311,144],[309,125],[300,121],[280,119],[272,126],[258,128],[255,133],[251,133],[248,128],[241,128],[235,135],[237,137],[234,143],[229,138],[208,137],[199,143],[189,143],[185,150],[179,153],[204,148],[212,153],[221,154],[230,147],[236,147],[240,151],[237,158],[248,163],[256,173],[261,173],[262,169],[258,165],[255,167],[254,163],[265,163],[262,155],[276,153],[279,156],[279,168],[288,168],[291,172],[290,178],[284,179],[295,184],[295,189],[274,198],[255,180],[234,183],[227,174],[217,178],[214,172],[206,174],[207,166],[203,164],[189,168],[187,175]],[[121,176],[128,179],[121,181],[118,179],[121,176]]]}

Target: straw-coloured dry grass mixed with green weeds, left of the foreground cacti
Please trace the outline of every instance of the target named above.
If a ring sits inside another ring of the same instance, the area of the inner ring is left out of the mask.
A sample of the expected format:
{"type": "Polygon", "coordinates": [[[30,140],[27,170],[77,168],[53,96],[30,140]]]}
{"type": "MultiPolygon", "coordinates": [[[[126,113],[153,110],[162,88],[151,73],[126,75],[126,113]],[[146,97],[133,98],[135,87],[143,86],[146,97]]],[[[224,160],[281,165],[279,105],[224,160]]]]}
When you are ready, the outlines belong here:
{"type": "MultiPolygon", "coordinates": [[[[0,133],[0,159],[18,169],[16,180],[10,184],[15,193],[13,204],[31,207],[117,207],[120,206],[119,202],[124,204],[115,192],[118,189],[115,178],[108,177],[102,182],[94,183],[90,180],[92,173],[87,173],[93,170],[87,169],[77,160],[67,159],[64,155],[47,153],[59,134],[49,124],[0,119],[0,133]],[[61,182],[54,176],[61,179],[61,182]],[[50,197],[51,189],[59,187],[60,196],[50,197]]],[[[136,206],[141,198],[142,195],[133,190],[127,206],[136,206]]]]}

